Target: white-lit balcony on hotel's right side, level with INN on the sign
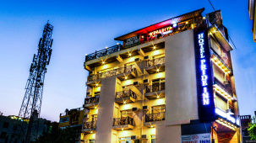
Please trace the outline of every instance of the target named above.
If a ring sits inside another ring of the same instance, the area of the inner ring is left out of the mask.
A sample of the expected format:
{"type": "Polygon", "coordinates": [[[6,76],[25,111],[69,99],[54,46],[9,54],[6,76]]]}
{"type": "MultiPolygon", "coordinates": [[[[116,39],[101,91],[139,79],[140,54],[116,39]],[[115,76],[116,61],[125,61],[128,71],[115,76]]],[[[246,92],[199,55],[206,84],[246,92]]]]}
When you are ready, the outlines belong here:
{"type": "Polygon", "coordinates": [[[224,84],[220,82],[217,78],[215,78],[214,85],[213,85],[215,92],[219,93],[223,98],[226,99],[233,99],[233,93],[231,89],[231,84],[224,84]]]}

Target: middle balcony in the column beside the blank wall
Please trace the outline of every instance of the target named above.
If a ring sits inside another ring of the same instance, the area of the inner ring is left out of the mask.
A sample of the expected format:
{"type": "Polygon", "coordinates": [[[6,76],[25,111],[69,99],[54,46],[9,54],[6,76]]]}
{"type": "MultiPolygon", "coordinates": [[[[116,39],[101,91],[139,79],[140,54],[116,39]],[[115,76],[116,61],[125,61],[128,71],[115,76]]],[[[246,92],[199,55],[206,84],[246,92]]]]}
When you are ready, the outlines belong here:
{"type": "Polygon", "coordinates": [[[165,82],[156,82],[145,86],[144,96],[148,99],[165,97],[165,82]]]}

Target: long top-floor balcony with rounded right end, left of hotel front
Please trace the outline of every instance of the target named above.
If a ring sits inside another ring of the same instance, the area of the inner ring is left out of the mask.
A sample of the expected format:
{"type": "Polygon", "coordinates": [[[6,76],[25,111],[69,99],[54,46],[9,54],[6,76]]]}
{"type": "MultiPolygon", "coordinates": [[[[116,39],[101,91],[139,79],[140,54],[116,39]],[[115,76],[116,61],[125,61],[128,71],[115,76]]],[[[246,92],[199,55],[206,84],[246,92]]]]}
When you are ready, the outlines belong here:
{"type": "Polygon", "coordinates": [[[100,80],[102,78],[113,77],[113,76],[117,76],[120,80],[124,80],[128,78],[136,77],[136,74],[137,74],[137,70],[135,66],[130,65],[130,66],[124,66],[121,68],[113,69],[107,72],[100,72],[100,73],[89,75],[88,82],[90,83],[95,80],[100,80]]]}

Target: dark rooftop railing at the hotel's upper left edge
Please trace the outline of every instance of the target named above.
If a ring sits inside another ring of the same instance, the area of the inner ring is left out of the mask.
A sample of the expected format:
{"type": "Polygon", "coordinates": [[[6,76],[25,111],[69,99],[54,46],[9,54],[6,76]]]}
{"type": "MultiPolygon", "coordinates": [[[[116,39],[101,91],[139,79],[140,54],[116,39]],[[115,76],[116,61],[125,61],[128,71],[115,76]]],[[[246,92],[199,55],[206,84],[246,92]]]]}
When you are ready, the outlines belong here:
{"type": "Polygon", "coordinates": [[[109,47],[109,48],[104,49],[104,50],[99,50],[99,51],[96,50],[94,53],[85,56],[85,62],[97,59],[97,58],[102,57],[102,56],[110,55],[112,53],[120,51],[121,49],[122,49],[122,45],[114,45],[114,46],[109,47]]]}

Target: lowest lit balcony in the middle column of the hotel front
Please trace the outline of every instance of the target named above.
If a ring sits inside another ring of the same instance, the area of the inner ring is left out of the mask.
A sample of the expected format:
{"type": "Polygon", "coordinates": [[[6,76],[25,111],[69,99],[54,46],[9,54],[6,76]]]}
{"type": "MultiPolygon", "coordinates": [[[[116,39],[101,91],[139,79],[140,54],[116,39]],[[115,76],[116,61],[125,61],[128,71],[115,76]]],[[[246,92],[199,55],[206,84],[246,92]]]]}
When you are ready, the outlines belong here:
{"type": "Polygon", "coordinates": [[[113,119],[114,130],[132,130],[134,128],[134,125],[134,120],[131,117],[113,119]]]}

